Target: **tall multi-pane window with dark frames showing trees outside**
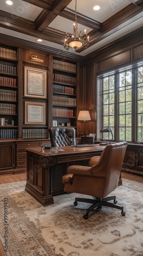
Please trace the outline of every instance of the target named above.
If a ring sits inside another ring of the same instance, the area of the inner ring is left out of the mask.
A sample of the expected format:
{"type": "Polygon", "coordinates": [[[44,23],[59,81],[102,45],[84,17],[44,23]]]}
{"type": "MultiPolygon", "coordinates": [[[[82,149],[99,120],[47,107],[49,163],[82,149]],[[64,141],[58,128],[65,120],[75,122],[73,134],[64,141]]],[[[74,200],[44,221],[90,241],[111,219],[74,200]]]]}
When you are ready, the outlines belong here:
{"type": "Polygon", "coordinates": [[[106,75],[101,85],[100,128],[109,127],[114,140],[143,141],[143,66],[106,75]]]}

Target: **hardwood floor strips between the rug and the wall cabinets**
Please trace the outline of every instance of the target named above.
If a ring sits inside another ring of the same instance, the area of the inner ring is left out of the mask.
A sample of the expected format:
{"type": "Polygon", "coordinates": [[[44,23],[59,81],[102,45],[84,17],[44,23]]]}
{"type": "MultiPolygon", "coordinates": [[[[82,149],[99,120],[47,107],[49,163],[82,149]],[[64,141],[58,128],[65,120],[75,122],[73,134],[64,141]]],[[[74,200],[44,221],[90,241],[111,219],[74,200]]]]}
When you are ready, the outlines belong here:
{"type": "MultiPolygon", "coordinates": [[[[124,174],[122,173],[122,178],[134,180],[140,183],[143,183],[143,178],[137,177],[131,174],[124,174]]],[[[27,179],[27,174],[14,174],[14,175],[4,175],[0,176],[0,184],[16,182],[16,181],[23,181],[27,179]]]]}

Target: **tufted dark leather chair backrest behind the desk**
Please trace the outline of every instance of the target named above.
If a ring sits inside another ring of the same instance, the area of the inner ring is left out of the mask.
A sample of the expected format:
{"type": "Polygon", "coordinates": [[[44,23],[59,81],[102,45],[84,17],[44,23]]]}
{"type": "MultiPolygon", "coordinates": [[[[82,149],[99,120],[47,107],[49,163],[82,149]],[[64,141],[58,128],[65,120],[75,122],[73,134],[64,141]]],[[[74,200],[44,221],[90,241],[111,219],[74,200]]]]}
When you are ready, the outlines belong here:
{"type": "Polygon", "coordinates": [[[50,127],[49,134],[52,146],[70,146],[76,144],[76,131],[74,127],[50,127]]]}

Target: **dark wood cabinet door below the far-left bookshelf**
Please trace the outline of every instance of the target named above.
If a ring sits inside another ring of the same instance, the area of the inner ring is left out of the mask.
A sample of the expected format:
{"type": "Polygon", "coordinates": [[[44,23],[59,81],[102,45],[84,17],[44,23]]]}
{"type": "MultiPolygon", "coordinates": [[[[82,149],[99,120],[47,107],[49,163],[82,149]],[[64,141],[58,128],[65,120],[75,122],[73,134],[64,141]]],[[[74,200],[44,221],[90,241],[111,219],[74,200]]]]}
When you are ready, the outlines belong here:
{"type": "Polygon", "coordinates": [[[13,173],[15,167],[14,142],[0,142],[0,175],[13,173]]]}

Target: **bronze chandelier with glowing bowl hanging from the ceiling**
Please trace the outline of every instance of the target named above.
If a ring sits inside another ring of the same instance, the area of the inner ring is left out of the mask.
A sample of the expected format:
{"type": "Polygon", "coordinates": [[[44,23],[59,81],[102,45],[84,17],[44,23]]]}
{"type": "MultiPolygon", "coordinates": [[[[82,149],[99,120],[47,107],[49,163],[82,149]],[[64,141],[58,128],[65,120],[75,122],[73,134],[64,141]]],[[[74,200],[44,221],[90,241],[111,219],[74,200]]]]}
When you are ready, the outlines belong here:
{"type": "Polygon", "coordinates": [[[64,48],[66,50],[69,49],[69,47],[74,48],[77,50],[80,47],[87,48],[89,46],[89,36],[86,34],[86,29],[84,30],[84,35],[78,34],[78,24],[77,24],[77,0],[76,0],[76,6],[75,6],[75,23],[74,23],[74,33],[66,33],[65,32],[65,40],[64,40],[64,48]]]}

